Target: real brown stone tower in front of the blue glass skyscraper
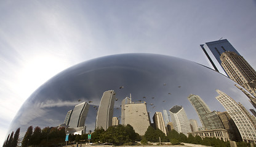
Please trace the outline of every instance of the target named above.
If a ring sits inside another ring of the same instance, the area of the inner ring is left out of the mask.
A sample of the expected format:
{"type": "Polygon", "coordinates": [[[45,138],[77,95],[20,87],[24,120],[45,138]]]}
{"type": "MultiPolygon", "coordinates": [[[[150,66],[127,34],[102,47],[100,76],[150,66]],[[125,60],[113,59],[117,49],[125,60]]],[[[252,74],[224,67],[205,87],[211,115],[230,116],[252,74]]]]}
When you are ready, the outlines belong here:
{"type": "Polygon", "coordinates": [[[250,64],[234,51],[222,53],[220,61],[228,77],[256,97],[256,72],[250,64]]]}

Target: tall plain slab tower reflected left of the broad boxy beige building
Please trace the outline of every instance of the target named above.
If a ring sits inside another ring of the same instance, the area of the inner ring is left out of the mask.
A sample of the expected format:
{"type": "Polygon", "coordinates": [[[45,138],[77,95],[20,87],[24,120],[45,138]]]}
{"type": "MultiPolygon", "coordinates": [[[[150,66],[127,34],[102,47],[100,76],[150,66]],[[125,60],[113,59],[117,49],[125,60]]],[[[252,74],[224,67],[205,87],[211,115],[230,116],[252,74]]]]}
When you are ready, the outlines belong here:
{"type": "Polygon", "coordinates": [[[112,125],[113,112],[114,112],[114,100],[116,99],[116,93],[113,90],[105,91],[100,105],[98,107],[98,113],[96,118],[96,128],[101,127],[106,130],[112,125]]]}

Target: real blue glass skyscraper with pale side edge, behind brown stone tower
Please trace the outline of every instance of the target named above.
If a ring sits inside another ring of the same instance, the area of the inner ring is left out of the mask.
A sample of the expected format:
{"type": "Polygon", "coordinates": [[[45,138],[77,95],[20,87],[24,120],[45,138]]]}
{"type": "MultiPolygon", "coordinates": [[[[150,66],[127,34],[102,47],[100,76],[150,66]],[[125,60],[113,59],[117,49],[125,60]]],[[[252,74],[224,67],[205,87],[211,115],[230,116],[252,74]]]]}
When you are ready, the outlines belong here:
{"type": "Polygon", "coordinates": [[[222,55],[222,53],[224,53],[225,51],[234,51],[237,55],[240,55],[238,51],[236,51],[236,49],[226,39],[206,42],[200,45],[200,47],[206,54],[214,69],[218,72],[224,72],[222,67],[220,66],[222,64],[222,61],[220,61],[220,56],[222,55]]]}

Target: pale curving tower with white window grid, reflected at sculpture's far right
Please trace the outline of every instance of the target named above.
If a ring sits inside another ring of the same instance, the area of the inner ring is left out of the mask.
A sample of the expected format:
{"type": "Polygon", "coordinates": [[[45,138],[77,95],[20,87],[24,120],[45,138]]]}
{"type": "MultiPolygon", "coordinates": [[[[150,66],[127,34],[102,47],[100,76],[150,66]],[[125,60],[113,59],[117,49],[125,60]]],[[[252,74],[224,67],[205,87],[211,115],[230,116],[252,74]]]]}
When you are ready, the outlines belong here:
{"type": "Polygon", "coordinates": [[[234,124],[238,127],[242,141],[256,143],[256,130],[254,125],[247,117],[246,112],[234,101],[230,96],[220,90],[216,90],[218,96],[216,99],[226,109],[230,117],[233,119],[234,124]]]}

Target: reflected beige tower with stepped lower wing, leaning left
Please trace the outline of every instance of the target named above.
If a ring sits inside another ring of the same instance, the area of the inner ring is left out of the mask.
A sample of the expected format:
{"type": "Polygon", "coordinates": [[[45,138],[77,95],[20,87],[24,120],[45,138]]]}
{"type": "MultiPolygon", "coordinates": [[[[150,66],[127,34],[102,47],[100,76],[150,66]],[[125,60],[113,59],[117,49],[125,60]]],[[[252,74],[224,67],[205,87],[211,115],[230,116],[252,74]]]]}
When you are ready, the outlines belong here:
{"type": "Polygon", "coordinates": [[[210,108],[206,105],[204,100],[201,99],[201,97],[190,94],[190,96],[188,96],[188,100],[193,105],[196,113],[198,113],[198,117],[204,129],[224,129],[222,121],[218,118],[217,112],[210,111],[210,108]]]}

